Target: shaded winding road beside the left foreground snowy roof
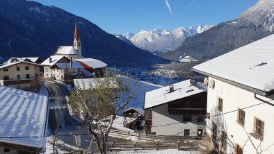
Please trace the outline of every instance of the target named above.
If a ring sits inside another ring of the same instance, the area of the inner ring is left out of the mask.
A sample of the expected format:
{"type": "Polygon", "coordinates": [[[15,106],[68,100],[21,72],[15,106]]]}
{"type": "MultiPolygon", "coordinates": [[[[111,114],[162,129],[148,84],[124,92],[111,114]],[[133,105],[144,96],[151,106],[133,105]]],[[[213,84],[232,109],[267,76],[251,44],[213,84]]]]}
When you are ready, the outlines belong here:
{"type": "MultiPolygon", "coordinates": [[[[81,144],[79,147],[86,148],[89,145],[90,137],[86,134],[81,123],[74,118],[70,118],[70,112],[67,109],[67,97],[69,92],[61,83],[45,81],[45,87],[49,92],[49,127],[48,132],[51,136],[54,135],[57,127],[57,121],[59,123],[58,139],[62,142],[76,146],[74,135],[79,135],[81,144]],[[84,134],[84,135],[83,135],[84,134]]],[[[48,136],[50,136],[48,135],[48,136]]]]}

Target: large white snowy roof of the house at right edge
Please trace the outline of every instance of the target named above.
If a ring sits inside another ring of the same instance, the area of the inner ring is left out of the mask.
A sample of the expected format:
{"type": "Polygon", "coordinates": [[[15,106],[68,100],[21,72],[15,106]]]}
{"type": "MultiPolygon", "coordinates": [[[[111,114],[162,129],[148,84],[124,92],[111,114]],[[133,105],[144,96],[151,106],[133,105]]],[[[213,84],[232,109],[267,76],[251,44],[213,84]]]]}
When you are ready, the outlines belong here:
{"type": "Polygon", "coordinates": [[[242,46],[193,67],[208,76],[218,76],[269,92],[274,89],[274,35],[242,46]]]}

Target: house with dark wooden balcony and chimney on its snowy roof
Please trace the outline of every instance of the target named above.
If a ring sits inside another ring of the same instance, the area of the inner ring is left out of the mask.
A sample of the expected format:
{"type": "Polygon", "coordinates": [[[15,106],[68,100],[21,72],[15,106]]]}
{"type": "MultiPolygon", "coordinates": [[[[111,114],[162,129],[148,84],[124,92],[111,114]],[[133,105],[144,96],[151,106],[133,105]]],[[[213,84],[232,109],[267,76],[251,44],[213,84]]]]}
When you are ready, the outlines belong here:
{"type": "Polygon", "coordinates": [[[161,87],[145,93],[144,109],[147,132],[202,137],[206,129],[207,88],[195,80],[161,87]]]}

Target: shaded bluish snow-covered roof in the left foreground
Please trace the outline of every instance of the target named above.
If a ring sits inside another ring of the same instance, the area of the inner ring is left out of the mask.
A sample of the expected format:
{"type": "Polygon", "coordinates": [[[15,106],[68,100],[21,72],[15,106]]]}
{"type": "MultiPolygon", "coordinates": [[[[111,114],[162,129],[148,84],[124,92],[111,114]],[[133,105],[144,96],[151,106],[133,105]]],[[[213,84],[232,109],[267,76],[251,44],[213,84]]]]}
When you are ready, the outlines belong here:
{"type": "Polygon", "coordinates": [[[47,96],[0,86],[0,142],[45,150],[47,112],[47,96]]]}

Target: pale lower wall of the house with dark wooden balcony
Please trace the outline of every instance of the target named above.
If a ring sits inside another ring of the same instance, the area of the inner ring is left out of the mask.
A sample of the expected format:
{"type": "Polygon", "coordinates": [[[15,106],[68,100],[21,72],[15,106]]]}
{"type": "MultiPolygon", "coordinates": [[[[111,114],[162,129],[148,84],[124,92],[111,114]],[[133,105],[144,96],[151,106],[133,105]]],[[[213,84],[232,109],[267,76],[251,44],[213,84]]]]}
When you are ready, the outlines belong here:
{"type": "MultiPolygon", "coordinates": [[[[156,135],[176,135],[178,132],[184,135],[184,129],[189,129],[190,136],[197,136],[198,129],[205,131],[205,122],[183,122],[183,115],[168,114],[168,103],[154,107],[152,119],[152,132],[156,135]]],[[[198,119],[198,115],[193,115],[192,119],[198,119]]]]}

